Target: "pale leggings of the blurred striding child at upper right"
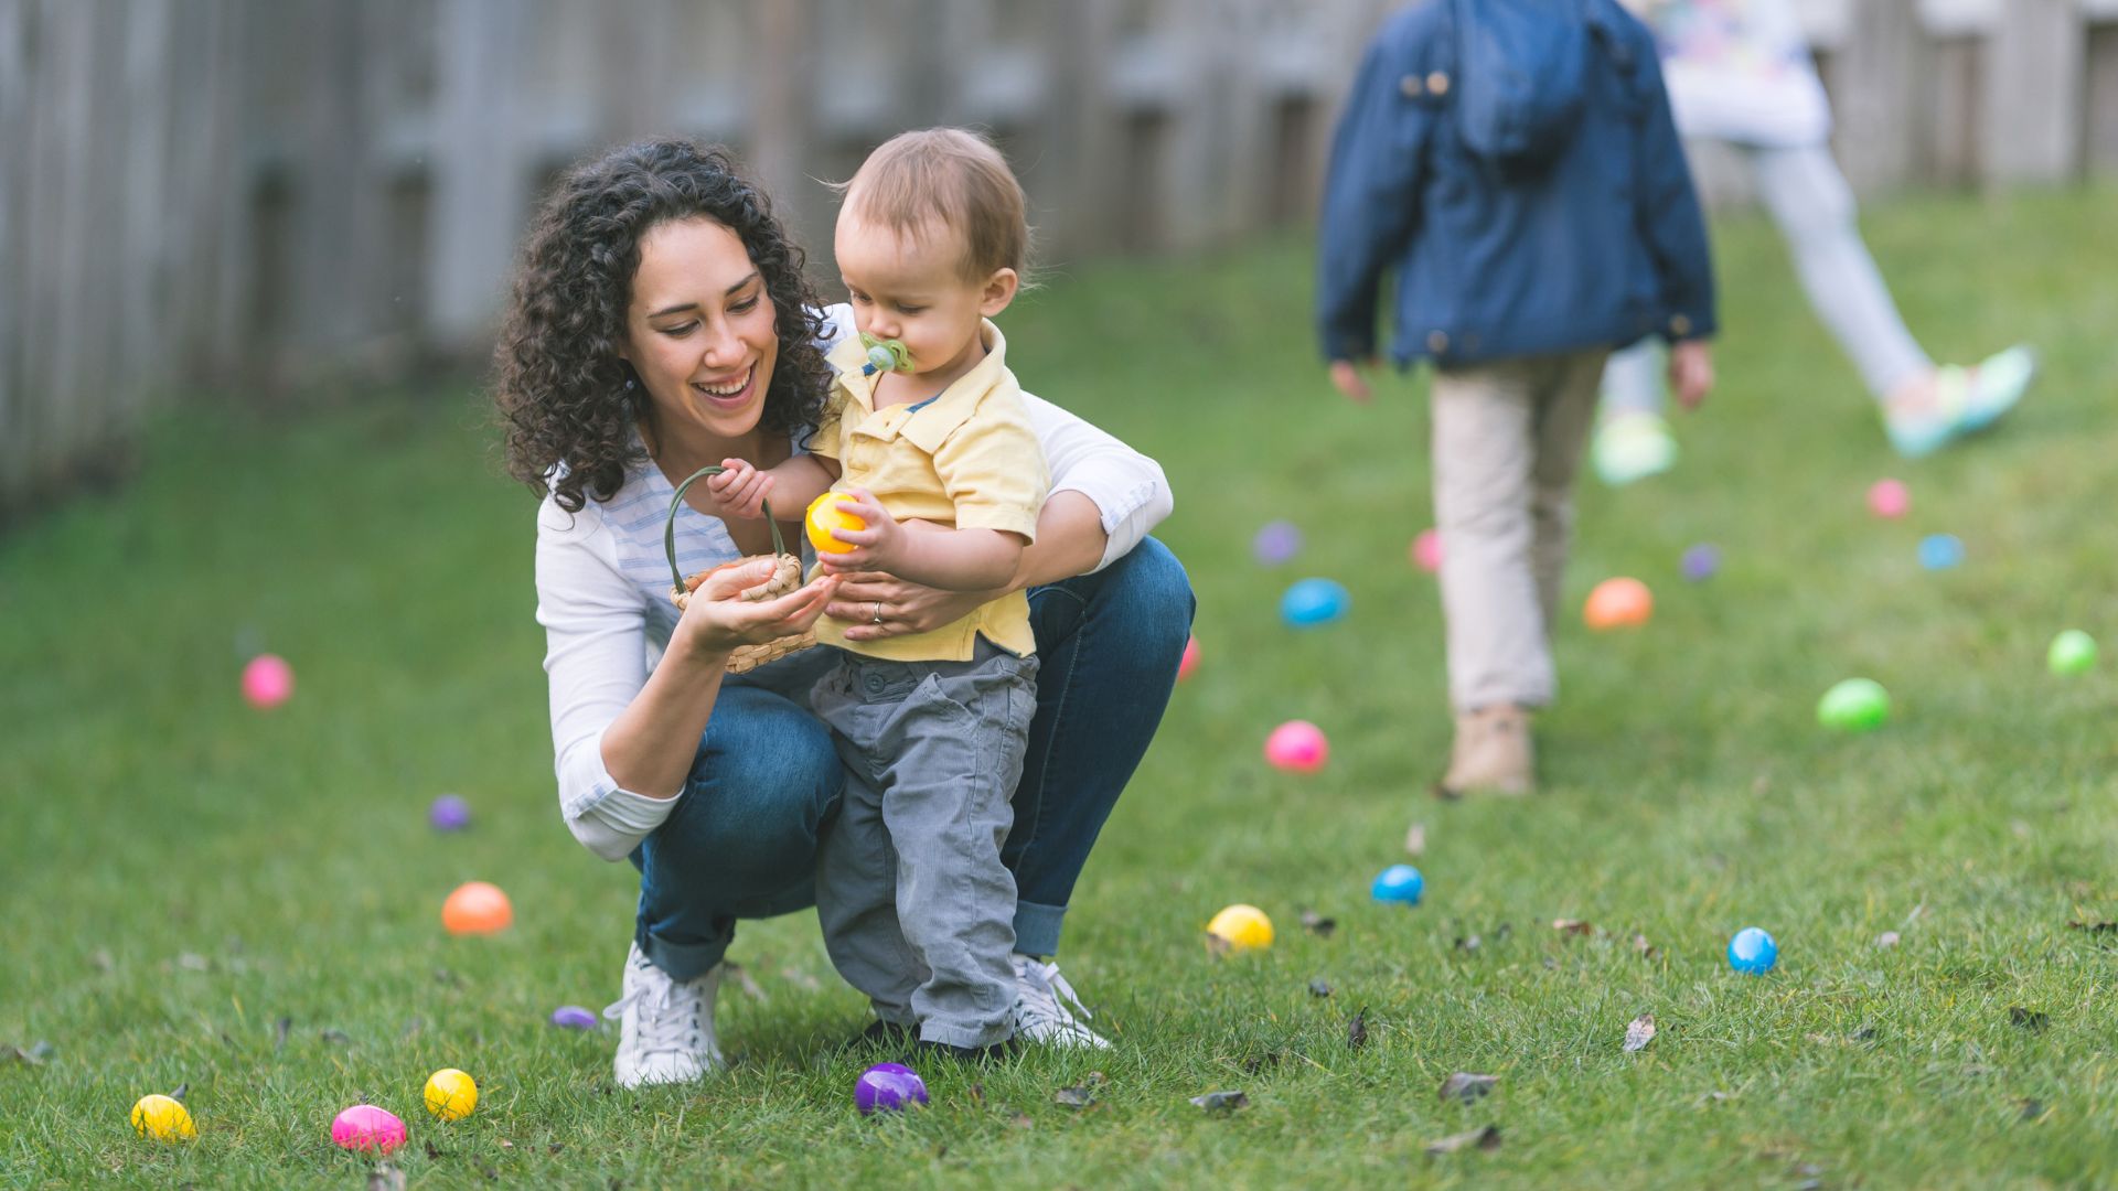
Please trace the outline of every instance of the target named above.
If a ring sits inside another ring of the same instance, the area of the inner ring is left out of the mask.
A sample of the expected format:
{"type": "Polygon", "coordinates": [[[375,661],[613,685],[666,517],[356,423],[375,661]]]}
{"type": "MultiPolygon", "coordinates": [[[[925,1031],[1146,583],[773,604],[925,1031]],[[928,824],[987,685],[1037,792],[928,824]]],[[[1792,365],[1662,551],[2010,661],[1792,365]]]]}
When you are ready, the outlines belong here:
{"type": "MultiPolygon", "coordinates": [[[[1773,212],[1809,305],[1860,369],[1877,401],[1934,367],[1904,328],[1874,256],[1853,223],[1853,191],[1824,144],[1800,148],[1739,146],[1764,208],[1773,212]]],[[[1612,411],[1658,411],[1661,343],[1644,339],[1610,358],[1603,401],[1612,411]]]]}

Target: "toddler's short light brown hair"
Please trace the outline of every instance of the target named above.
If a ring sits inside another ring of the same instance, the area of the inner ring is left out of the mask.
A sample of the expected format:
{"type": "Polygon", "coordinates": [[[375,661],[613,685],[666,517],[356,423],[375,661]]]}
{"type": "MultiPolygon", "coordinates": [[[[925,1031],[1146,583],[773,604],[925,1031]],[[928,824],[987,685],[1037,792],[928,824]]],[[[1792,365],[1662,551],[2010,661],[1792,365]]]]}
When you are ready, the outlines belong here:
{"type": "Polygon", "coordinates": [[[1023,184],[993,142],[959,127],[898,134],[839,186],[856,218],[917,239],[940,225],[962,242],[957,269],[983,282],[1015,269],[1029,284],[1029,216],[1023,184]]]}

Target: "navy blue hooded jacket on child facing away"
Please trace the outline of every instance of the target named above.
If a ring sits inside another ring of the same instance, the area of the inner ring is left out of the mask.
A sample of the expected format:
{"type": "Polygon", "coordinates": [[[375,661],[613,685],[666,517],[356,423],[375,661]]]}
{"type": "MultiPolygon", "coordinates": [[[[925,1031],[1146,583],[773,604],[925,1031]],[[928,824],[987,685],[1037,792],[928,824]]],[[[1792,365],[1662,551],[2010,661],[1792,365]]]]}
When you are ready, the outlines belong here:
{"type": "Polygon", "coordinates": [[[1317,261],[1330,360],[1476,365],[1711,335],[1705,218],[1652,34],[1616,0],[1421,0],[1368,45],[1317,261]]]}

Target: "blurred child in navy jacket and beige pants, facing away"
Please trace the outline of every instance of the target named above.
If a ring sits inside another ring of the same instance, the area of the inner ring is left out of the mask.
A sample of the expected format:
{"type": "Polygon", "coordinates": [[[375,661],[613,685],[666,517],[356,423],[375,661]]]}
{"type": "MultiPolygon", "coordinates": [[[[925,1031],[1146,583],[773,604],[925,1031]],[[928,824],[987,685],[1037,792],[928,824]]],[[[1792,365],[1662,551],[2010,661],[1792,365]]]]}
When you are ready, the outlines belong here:
{"type": "Polygon", "coordinates": [[[1603,358],[1661,335],[1686,407],[1713,384],[1705,216],[1654,38],[1616,0],[1421,0],[1368,45],[1332,142],[1317,333],[1368,398],[1434,360],[1434,509],[1455,748],[1436,793],[1527,793],[1529,712],[1603,358]]]}

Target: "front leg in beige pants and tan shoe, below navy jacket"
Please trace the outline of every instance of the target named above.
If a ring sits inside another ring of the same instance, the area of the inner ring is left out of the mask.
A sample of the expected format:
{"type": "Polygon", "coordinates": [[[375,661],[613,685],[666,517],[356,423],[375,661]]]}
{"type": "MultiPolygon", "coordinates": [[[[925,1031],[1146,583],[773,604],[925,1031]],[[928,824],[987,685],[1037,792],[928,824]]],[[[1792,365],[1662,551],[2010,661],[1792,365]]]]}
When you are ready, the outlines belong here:
{"type": "Polygon", "coordinates": [[[1449,549],[1440,591],[1457,712],[1438,793],[1525,793],[1527,708],[1552,699],[1552,657],[1531,568],[1538,379],[1548,360],[1434,373],[1434,515],[1449,549]]]}

